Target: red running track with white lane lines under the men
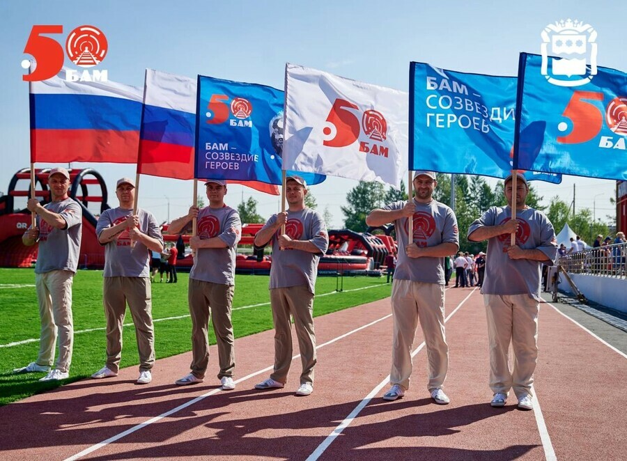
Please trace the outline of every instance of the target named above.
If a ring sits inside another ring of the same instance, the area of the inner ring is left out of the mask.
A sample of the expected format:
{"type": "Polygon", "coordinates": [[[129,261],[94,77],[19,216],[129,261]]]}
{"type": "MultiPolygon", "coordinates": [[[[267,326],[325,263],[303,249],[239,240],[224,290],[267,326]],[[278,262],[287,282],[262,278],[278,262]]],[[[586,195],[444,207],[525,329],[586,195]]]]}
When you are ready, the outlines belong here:
{"type": "MultiPolygon", "coordinates": [[[[300,358],[284,389],[256,391],[270,373],[272,331],[235,341],[238,384],[219,391],[212,347],[208,379],[175,386],[191,355],[157,361],[153,382],[136,367],[0,408],[0,456],[74,459],[619,460],[627,453],[627,357],[543,304],[536,411],[488,405],[483,299],[447,290],[451,404],[426,390],[418,329],[412,385],[385,402],[392,350],[389,299],[316,318],[314,393],[297,397],[300,358]],[[346,336],[344,336],[346,335],[346,336]],[[353,418],[347,417],[353,413],[353,418]],[[329,437],[339,425],[336,437],[329,437]]],[[[269,308],[269,307],[268,307],[269,308]]],[[[297,346],[295,346],[297,351],[297,346]]]]}

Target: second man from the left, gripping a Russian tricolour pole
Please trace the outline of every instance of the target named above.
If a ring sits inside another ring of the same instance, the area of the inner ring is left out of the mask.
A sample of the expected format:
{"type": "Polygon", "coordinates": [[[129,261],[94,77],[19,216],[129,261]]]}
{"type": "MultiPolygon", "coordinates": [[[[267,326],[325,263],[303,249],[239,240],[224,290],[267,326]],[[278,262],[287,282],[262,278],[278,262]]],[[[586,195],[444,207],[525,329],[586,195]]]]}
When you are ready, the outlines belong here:
{"type": "Polygon", "coordinates": [[[133,214],[135,185],[130,178],[118,180],[116,196],[120,206],[105,210],[96,226],[98,242],[104,245],[102,304],[107,319],[107,363],[91,377],[98,380],[118,375],[128,303],[139,350],[137,383],[148,384],[153,380],[150,370],[155,363],[150,251],[163,251],[163,237],[153,214],[141,208],[133,214]]]}

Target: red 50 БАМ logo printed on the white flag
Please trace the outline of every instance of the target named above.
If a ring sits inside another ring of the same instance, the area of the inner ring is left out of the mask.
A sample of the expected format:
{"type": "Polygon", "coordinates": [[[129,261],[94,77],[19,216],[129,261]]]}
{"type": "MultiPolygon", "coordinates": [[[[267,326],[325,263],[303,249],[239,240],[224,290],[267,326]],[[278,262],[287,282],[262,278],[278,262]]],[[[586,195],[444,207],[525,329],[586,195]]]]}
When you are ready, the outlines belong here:
{"type": "Polygon", "coordinates": [[[362,114],[360,123],[359,117],[350,109],[358,111],[359,107],[347,100],[335,100],[323,128],[323,144],[328,147],[350,146],[359,139],[363,128],[368,140],[359,139],[359,150],[387,157],[389,148],[376,142],[387,138],[385,117],[378,111],[368,110],[362,114]]]}

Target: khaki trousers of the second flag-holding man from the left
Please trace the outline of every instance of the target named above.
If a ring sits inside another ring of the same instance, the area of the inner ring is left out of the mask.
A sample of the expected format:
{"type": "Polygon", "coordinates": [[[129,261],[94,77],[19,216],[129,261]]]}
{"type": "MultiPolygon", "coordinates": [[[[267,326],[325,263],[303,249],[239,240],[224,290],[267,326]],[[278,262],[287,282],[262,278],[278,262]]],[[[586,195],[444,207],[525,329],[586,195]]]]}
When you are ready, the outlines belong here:
{"type": "Polygon", "coordinates": [[[117,373],[120,366],[126,303],[135,325],[139,370],[150,370],[155,364],[155,330],[148,277],[104,277],[102,304],[107,319],[107,368],[117,373]]]}

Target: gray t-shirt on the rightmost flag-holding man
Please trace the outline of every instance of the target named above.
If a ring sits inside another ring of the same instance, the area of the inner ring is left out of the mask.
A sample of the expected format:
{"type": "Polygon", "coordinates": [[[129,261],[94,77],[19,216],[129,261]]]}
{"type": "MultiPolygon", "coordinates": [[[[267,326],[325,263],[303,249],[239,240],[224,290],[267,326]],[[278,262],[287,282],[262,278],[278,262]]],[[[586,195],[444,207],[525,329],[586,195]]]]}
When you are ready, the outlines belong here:
{"type": "MultiPolygon", "coordinates": [[[[468,229],[468,235],[483,226],[499,226],[511,219],[511,208],[490,207],[468,229]]],[[[555,231],[543,212],[527,208],[516,210],[520,223],[516,233],[516,244],[522,249],[539,249],[548,259],[555,262],[557,240],[555,231]]],[[[488,240],[486,272],[481,292],[486,295],[529,295],[540,299],[541,261],[510,259],[507,249],[511,235],[502,234],[488,240]]]]}

